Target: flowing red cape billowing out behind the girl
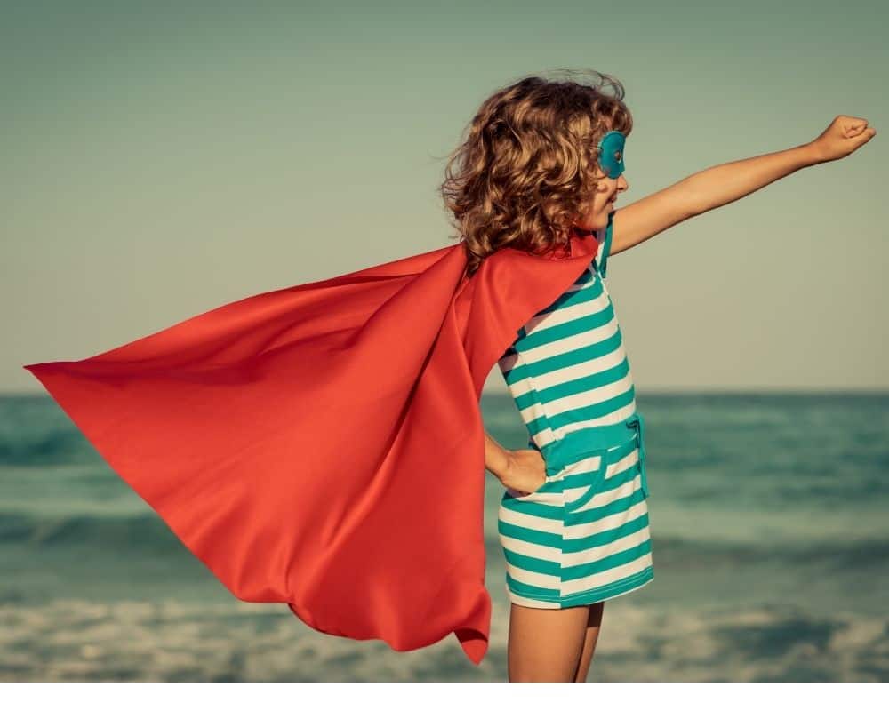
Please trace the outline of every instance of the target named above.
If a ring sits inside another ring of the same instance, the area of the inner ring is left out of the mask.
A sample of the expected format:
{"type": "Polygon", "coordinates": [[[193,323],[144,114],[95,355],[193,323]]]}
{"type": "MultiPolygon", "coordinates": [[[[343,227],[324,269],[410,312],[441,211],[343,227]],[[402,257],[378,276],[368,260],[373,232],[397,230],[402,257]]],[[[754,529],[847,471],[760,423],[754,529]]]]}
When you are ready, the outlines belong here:
{"type": "Polygon", "coordinates": [[[462,244],[237,300],[33,373],[240,600],[485,656],[485,379],[596,255],[462,244]]]}

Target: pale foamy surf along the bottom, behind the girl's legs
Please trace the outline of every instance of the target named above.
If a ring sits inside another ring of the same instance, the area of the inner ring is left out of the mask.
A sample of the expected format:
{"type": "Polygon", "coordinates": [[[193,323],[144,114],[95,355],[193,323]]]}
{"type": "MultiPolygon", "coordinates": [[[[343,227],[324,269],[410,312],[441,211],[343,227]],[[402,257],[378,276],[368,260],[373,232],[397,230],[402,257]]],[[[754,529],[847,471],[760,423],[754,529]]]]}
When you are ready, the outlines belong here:
{"type": "MultiPolygon", "coordinates": [[[[324,635],[283,604],[3,604],[0,681],[503,681],[509,605],[479,667],[453,635],[410,653],[324,635]]],[[[588,681],[885,682],[889,619],[792,604],[606,603],[588,681]]]]}

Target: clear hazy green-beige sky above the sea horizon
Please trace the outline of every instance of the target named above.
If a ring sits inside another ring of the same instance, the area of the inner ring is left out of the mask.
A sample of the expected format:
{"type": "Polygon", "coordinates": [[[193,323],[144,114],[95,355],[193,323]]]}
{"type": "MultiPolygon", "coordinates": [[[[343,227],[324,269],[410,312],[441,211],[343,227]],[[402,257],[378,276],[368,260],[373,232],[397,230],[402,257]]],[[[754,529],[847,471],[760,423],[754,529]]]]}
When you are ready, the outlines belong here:
{"type": "Polygon", "coordinates": [[[2,9],[0,391],[43,391],[24,363],[453,244],[445,155],[490,92],[555,68],[626,87],[623,204],[868,118],[860,152],[608,279],[639,393],[889,387],[885,3],[2,9]]]}

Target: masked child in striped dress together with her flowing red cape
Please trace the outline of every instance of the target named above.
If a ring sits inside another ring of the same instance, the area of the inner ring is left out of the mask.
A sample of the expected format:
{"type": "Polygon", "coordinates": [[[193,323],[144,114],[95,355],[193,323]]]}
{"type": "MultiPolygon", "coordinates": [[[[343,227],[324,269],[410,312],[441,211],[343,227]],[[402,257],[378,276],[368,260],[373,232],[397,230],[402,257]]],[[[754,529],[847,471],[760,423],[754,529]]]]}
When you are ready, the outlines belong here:
{"type": "Polygon", "coordinates": [[[485,656],[487,467],[507,487],[510,679],[584,679],[601,601],[652,570],[643,420],[605,261],[874,135],[838,116],[805,146],[614,211],[629,116],[595,85],[524,79],[485,101],[455,154],[458,244],[24,367],[238,599],[397,651],[453,633],[473,662],[485,656]],[[485,434],[478,399],[495,363],[534,449],[485,434]],[[626,526],[613,548],[600,501],[626,526]],[[522,553],[544,549],[541,563],[522,553]],[[575,553],[607,564],[573,579],[561,563],[575,553]]]}

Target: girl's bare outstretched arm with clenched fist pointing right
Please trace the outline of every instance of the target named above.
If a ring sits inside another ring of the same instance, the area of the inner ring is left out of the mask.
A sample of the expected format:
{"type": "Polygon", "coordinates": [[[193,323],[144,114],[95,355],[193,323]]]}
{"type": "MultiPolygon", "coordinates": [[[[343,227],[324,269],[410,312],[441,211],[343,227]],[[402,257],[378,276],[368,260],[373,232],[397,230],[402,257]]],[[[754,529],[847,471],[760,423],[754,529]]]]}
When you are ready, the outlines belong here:
{"type": "Polygon", "coordinates": [[[850,155],[877,134],[863,118],[837,116],[821,135],[795,148],[716,165],[618,208],[610,254],[628,250],[678,222],[732,203],[800,168],[850,155]]]}

